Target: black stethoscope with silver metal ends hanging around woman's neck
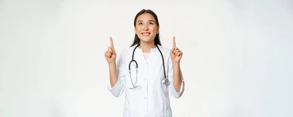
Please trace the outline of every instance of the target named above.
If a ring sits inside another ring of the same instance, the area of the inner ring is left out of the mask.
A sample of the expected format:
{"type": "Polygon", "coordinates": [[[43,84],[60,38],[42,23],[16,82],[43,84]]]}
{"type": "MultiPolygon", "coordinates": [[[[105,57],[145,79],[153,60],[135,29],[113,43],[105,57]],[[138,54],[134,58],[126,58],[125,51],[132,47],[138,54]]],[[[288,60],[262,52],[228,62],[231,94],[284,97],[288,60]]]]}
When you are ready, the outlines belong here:
{"type": "MultiPolygon", "coordinates": [[[[134,51],[135,51],[135,49],[136,49],[139,45],[140,45],[140,44],[138,44],[138,45],[134,48],[133,53],[132,53],[132,60],[129,62],[129,67],[128,67],[128,69],[129,69],[130,80],[131,80],[131,83],[132,83],[132,86],[133,86],[133,88],[129,88],[129,89],[134,89],[134,88],[138,87],[138,86],[134,86],[134,85],[133,85],[132,78],[131,78],[131,73],[130,73],[130,64],[131,64],[131,62],[135,62],[135,68],[136,68],[136,79],[137,79],[138,65],[137,65],[137,62],[133,59],[133,57],[134,57],[134,51]]],[[[158,50],[160,51],[161,56],[162,56],[162,60],[163,60],[163,68],[164,68],[164,77],[165,77],[165,78],[162,80],[162,83],[163,83],[164,85],[167,85],[167,84],[169,83],[169,80],[166,78],[163,54],[162,54],[161,50],[159,49],[158,45],[156,45],[156,46],[157,46],[158,50]]]]}

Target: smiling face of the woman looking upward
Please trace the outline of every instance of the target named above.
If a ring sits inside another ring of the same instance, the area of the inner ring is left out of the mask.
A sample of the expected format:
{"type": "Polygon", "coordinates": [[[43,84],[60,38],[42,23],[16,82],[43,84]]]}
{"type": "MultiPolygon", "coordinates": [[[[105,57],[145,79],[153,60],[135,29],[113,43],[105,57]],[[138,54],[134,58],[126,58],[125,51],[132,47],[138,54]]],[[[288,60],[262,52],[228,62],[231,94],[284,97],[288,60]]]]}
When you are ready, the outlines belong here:
{"type": "Polygon", "coordinates": [[[135,33],[141,41],[152,42],[159,33],[159,26],[151,14],[144,13],[136,19],[135,33]]]}

